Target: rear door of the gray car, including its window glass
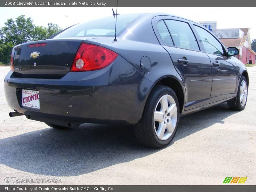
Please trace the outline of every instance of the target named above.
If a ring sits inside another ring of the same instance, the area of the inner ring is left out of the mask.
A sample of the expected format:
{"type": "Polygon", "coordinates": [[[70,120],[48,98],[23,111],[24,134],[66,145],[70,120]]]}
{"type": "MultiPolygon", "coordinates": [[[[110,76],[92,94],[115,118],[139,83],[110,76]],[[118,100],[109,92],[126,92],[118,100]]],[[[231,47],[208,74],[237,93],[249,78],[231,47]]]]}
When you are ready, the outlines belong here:
{"type": "Polygon", "coordinates": [[[212,89],[211,62],[201,51],[202,47],[189,22],[176,17],[159,19],[156,23],[159,42],[169,52],[185,84],[185,110],[209,104],[212,89]]]}

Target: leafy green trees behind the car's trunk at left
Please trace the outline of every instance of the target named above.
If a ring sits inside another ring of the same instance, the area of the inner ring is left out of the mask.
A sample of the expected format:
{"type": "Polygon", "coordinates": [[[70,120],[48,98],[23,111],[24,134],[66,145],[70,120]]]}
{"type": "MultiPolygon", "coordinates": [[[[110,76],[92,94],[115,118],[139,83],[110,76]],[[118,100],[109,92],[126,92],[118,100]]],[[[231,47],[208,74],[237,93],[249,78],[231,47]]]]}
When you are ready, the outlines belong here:
{"type": "MultiPolygon", "coordinates": [[[[12,47],[29,41],[44,40],[49,38],[49,28],[35,26],[33,20],[25,15],[15,19],[8,19],[5,26],[0,29],[0,62],[10,62],[12,47]]],[[[62,29],[57,24],[50,27],[50,35],[54,35],[62,29]]]]}

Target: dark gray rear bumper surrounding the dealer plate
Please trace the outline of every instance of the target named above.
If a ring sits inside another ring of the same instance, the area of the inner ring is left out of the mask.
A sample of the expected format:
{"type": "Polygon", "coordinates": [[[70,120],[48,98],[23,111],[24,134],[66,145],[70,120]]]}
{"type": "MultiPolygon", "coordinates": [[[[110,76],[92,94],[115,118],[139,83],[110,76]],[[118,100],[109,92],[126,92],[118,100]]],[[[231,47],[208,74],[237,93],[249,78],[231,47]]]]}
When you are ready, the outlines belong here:
{"type": "Polygon", "coordinates": [[[4,79],[5,97],[12,109],[30,119],[65,124],[135,124],[152,85],[121,57],[107,68],[69,72],[61,79],[19,78],[12,71],[4,79]],[[22,89],[39,91],[40,110],[21,105],[22,89]]]}

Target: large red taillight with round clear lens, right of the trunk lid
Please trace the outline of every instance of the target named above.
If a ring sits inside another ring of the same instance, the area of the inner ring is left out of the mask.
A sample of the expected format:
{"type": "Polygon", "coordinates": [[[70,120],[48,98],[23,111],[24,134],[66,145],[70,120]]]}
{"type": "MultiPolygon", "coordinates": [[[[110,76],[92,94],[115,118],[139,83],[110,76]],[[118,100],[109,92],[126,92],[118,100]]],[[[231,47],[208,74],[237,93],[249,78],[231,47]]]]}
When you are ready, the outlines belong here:
{"type": "Polygon", "coordinates": [[[70,71],[92,71],[107,67],[117,54],[98,45],[82,43],[76,53],[70,71]]]}

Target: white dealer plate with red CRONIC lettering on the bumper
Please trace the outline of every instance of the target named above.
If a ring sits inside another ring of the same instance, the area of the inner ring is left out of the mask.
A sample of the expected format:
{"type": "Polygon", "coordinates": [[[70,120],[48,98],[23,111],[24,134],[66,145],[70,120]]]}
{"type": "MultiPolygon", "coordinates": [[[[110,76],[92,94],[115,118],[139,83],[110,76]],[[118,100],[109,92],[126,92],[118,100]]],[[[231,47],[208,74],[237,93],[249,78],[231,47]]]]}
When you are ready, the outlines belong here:
{"type": "Polygon", "coordinates": [[[40,109],[39,91],[22,89],[22,106],[40,109]]]}

